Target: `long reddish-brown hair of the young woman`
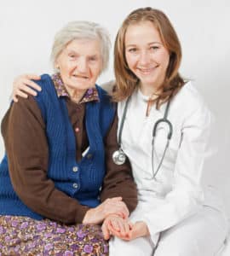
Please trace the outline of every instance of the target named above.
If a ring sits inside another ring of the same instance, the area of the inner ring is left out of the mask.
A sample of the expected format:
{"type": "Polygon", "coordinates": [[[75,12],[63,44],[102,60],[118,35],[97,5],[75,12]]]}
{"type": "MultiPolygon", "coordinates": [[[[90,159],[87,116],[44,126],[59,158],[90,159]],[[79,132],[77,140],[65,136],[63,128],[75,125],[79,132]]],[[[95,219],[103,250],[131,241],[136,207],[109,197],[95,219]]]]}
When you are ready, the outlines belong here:
{"type": "Polygon", "coordinates": [[[166,70],[164,82],[161,86],[162,92],[156,99],[157,108],[167,102],[171,97],[181,89],[184,80],[178,73],[181,64],[181,44],[176,35],[174,27],[164,13],[158,9],[150,7],[136,9],[131,12],[124,20],[118,30],[114,45],[114,73],[117,80],[117,86],[113,91],[112,98],[115,102],[120,102],[132,95],[139,79],[128,67],[125,58],[125,33],[131,24],[138,24],[142,21],[151,21],[157,28],[164,47],[169,50],[170,62],[166,70]]]}

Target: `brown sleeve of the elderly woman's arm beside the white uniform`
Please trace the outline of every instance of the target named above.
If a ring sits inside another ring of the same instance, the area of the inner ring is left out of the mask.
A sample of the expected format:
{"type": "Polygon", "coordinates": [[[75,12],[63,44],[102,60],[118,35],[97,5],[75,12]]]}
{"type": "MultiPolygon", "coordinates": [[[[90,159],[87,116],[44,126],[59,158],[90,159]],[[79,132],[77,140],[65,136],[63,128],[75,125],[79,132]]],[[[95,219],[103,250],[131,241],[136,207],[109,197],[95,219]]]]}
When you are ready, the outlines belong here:
{"type": "Polygon", "coordinates": [[[118,115],[116,113],[110,131],[106,136],[106,177],[101,189],[101,201],[122,196],[124,203],[132,212],[137,205],[137,190],[132,176],[129,159],[121,166],[114,164],[112,154],[118,150],[118,115]]]}

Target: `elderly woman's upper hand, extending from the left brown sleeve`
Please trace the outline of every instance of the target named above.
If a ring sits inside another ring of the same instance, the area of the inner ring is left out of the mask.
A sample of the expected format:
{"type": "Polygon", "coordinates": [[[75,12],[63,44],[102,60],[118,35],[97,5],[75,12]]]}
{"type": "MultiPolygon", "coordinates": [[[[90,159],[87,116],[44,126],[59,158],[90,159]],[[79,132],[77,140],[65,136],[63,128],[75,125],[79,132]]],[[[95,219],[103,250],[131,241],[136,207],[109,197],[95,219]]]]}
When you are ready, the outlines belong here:
{"type": "Polygon", "coordinates": [[[129,217],[129,209],[122,201],[122,197],[106,199],[98,207],[90,209],[83,218],[83,224],[101,224],[109,214],[117,214],[121,218],[129,217]]]}

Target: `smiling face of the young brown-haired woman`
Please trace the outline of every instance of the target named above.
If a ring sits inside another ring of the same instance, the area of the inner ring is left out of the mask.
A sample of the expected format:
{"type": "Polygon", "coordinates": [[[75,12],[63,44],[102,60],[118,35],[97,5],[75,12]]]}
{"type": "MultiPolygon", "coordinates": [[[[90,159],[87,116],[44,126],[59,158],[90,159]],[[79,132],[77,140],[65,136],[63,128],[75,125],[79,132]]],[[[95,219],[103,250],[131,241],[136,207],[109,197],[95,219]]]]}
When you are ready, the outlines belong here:
{"type": "Polygon", "coordinates": [[[142,86],[158,87],[164,82],[170,61],[168,49],[150,21],[129,25],[125,33],[125,58],[142,86]]]}

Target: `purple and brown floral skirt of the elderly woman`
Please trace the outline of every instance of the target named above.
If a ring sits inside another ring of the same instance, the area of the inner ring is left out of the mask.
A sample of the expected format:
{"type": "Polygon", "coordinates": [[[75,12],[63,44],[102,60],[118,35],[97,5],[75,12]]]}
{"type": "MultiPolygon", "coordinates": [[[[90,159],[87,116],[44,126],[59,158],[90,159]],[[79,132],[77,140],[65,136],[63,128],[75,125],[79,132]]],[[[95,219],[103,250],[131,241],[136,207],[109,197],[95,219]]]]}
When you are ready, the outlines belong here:
{"type": "Polygon", "coordinates": [[[65,225],[49,219],[0,216],[0,256],[108,255],[101,227],[65,225]]]}

